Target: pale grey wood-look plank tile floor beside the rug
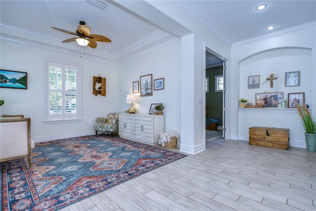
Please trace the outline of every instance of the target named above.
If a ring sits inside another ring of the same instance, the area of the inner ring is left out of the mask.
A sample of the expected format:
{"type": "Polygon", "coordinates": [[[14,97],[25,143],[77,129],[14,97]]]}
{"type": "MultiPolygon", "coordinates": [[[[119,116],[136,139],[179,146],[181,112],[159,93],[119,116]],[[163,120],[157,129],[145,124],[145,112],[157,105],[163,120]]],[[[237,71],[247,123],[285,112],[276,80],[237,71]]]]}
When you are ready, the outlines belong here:
{"type": "MultiPolygon", "coordinates": [[[[174,149],[179,150],[179,149],[174,149]]],[[[316,210],[316,153],[218,138],[62,211],[316,210]]]]}

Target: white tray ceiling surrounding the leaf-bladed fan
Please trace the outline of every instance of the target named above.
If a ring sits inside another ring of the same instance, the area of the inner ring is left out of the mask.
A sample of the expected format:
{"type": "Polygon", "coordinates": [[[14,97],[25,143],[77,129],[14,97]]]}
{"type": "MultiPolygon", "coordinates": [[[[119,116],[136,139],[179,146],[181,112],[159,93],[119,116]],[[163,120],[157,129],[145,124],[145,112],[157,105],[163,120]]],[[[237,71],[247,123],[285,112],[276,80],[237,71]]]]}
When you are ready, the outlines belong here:
{"type": "MultiPolygon", "coordinates": [[[[27,31],[28,35],[35,32],[33,34],[40,33],[41,37],[53,36],[56,39],[50,44],[55,44],[53,42],[61,42],[75,36],[51,29],[51,26],[76,32],[79,21],[84,21],[91,27],[92,34],[104,35],[112,40],[112,43],[98,42],[96,48],[98,52],[104,51],[109,54],[118,54],[123,48],[131,48],[135,46],[135,42],[139,44],[137,41],[140,39],[148,41],[156,37],[157,41],[165,37],[161,40],[164,42],[166,36],[170,35],[166,31],[161,31],[155,24],[122,10],[115,4],[105,3],[108,6],[101,10],[87,1],[1,1],[1,23],[5,24],[6,28],[12,28],[12,25],[18,28],[16,31],[19,32],[25,32],[23,29],[30,30],[27,31]],[[161,37],[157,37],[158,35],[161,37]]],[[[9,32],[2,30],[2,33],[9,32]]],[[[24,38],[33,39],[28,35],[24,38]]],[[[174,37],[172,35],[168,39],[174,37]]],[[[62,43],[59,46],[79,49],[76,42],[62,43]]],[[[87,51],[96,50],[86,48],[87,51]]]]}

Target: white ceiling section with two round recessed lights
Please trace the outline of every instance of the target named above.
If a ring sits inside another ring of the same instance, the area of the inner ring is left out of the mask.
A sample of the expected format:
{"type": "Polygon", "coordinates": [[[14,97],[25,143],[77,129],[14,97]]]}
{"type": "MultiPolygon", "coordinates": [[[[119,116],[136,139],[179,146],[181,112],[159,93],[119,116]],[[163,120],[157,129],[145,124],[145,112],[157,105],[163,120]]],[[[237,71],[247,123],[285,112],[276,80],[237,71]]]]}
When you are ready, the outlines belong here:
{"type": "Polygon", "coordinates": [[[316,1],[175,1],[228,45],[316,20],[316,1]],[[264,10],[256,6],[266,3],[264,10]],[[276,28],[266,30],[268,26],[276,28]]]}

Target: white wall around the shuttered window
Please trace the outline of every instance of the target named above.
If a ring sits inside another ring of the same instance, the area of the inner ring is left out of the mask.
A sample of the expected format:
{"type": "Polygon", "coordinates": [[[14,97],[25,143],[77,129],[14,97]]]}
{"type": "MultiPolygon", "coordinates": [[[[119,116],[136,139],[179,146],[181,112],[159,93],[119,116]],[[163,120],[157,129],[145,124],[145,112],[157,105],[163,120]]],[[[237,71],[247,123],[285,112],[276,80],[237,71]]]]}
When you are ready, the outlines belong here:
{"type": "MultiPolygon", "coordinates": [[[[27,90],[1,88],[1,115],[24,114],[31,118],[32,138],[93,132],[96,117],[106,117],[108,112],[119,111],[116,105],[116,66],[101,61],[85,59],[58,52],[1,42],[1,69],[27,72],[27,90]],[[44,57],[70,61],[82,65],[82,122],[47,124],[43,118],[44,57]],[[106,77],[106,97],[92,94],[92,76],[106,77]]],[[[52,137],[52,139],[54,139],[52,137]]],[[[58,139],[55,138],[55,139],[58,139]]],[[[46,140],[46,139],[40,139],[46,140]]]]}

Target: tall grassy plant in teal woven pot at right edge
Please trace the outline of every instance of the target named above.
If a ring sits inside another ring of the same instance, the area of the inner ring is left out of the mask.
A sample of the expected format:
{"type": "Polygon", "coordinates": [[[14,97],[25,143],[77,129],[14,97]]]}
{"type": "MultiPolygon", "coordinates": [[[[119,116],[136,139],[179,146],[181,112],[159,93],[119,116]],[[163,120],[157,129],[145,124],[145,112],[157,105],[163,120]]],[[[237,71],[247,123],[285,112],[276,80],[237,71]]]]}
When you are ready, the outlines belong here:
{"type": "Polygon", "coordinates": [[[295,103],[298,113],[301,116],[301,122],[305,130],[305,141],[307,151],[316,152],[316,121],[309,113],[305,103],[302,107],[299,103],[295,103]]]}

